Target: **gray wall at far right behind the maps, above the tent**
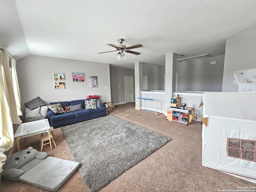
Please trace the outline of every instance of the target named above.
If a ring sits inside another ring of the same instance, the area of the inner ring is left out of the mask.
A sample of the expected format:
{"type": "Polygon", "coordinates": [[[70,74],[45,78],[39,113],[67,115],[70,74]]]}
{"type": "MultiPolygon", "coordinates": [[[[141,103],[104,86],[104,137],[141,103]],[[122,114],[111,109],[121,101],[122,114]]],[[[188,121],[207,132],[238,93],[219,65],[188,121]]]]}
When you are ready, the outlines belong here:
{"type": "Polygon", "coordinates": [[[237,92],[233,85],[233,72],[256,68],[256,25],[226,40],[226,56],[223,73],[223,92],[237,92]]]}

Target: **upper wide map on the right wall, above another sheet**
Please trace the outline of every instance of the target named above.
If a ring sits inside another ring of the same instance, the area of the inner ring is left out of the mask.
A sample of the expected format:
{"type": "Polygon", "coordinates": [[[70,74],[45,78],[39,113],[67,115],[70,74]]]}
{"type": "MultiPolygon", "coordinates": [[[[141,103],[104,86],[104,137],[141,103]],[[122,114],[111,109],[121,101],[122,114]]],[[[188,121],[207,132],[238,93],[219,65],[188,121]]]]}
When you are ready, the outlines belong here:
{"type": "Polygon", "coordinates": [[[239,83],[256,83],[256,69],[235,71],[233,84],[238,85],[239,83]]]}

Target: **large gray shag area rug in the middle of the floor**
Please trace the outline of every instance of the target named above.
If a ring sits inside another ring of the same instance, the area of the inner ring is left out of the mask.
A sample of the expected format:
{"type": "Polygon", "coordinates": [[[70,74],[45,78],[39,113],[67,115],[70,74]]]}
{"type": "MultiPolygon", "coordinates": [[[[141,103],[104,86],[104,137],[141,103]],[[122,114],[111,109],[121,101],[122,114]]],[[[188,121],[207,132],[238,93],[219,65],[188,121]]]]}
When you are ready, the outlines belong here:
{"type": "Polygon", "coordinates": [[[96,192],[171,139],[116,116],[64,126],[89,192],[96,192]]]}

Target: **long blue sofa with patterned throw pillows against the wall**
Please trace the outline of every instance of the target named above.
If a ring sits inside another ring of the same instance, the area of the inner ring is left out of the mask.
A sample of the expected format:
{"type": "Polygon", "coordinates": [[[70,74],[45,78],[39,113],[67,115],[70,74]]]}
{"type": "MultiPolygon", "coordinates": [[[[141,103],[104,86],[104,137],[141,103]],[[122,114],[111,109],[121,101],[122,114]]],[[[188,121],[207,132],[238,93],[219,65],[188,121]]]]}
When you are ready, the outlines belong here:
{"type": "Polygon", "coordinates": [[[74,100],[74,101],[50,103],[49,105],[60,103],[63,110],[65,109],[66,106],[75,106],[79,104],[82,105],[81,110],[75,110],[75,111],[70,111],[65,113],[54,113],[54,111],[48,110],[47,117],[51,126],[53,126],[53,128],[58,128],[58,127],[86,121],[89,119],[106,116],[106,107],[103,103],[100,103],[100,106],[98,106],[96,109],[85,109],[84,101],[85,100],[74,100]]]}

